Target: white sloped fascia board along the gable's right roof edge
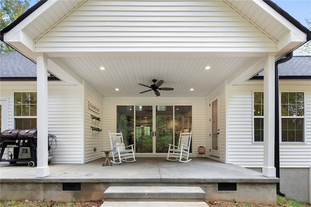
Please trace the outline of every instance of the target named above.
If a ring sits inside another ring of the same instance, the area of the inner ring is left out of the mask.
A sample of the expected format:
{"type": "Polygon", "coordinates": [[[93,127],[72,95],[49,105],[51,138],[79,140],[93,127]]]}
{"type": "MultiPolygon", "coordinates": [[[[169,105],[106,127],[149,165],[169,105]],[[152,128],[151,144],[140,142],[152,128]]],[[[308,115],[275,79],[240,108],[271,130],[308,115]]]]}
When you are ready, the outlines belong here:
{"type": "Polygon", "coordinates": [[[289,22],[286,18],[280,15],[276,10],[274,10],[271,6],[266,4],[263,0],[254,0],[254,2],[261,7],[263,10],[268,12],[272,17],[274,17],[280,24],[284,25],[290,31],[292,31],[293,35],[296,35],[302,41],[306,41],[307,35],[294,26],[291,22],[289,22]]]}

